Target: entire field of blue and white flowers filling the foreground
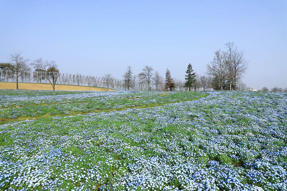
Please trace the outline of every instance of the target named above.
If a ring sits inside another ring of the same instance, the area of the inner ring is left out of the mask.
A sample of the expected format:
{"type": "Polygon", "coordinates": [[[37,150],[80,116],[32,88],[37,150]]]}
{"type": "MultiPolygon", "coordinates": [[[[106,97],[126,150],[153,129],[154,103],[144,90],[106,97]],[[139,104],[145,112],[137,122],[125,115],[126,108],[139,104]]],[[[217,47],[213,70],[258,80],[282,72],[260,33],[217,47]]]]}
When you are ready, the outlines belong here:
{"type": "Polygon", "coordinates": [[[286,93],[21,91],[1,190],[287,190],[286,93]]]}

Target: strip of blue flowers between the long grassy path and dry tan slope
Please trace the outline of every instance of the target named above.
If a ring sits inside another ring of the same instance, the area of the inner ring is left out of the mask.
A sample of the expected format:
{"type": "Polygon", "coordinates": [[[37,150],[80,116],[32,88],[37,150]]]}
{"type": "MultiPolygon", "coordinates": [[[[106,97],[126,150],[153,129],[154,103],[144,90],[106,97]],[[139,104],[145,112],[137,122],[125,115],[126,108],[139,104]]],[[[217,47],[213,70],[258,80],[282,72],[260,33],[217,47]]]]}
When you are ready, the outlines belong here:
{"type": "MultiPolygon", "coordinates": [[[[36,92],[38,93],[38,91],[36,92]]],[[[160,96],[162,92],[114,92],[115,93],[75,92],[73,94],[67,94],[67,91],[60,91],[58,94],[62,95],[57,96],[0,96],[0,107],[2,107],[0,109],[0,120],[18,119],[19,117],[20,119],[26,119],[27,117],[82,114],[103,110],[144,107],[204,96],[204,93],[200,92],[173,92],[163,96],[160,96]]],[[[13,90],[10,94],[13,94],[13,90]]]]}

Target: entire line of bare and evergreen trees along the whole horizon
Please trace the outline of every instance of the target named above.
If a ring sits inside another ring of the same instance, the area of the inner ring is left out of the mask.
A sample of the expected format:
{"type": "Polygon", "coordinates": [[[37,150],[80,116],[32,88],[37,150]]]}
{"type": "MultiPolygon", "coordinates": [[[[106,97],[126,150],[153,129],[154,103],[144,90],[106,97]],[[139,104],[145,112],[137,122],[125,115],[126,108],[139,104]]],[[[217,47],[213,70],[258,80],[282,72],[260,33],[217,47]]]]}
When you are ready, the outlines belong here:
{"type": "MultiPolygon", "coordinates": [[[[120,83],[120,88],[124,88],[125,90],[138,89],[147,91],[245,90],[246,84],[242,79],[248,70],[249,60],[245,58],[245,52],[239,50],[234,42],[228,42],[224,45],[225,50],[218,49],[214,52],[213,60],[208,62],[206,72],[204,72],[203,75],[194,72],[191,64],[187,66],[185,81],[176,77],[172,78],[168,68],[166,69],[164,78],[158,71],[154,70],[152,66],[144,66],[137,75],[133,74],[133,69],[131,66],[128,66],[122,75],[121,81],[123,81],[123,83],[120,83]]],[[[25,59],[22,56],[22,52],[18,51],[9,55],[9,61],[8,63],[0,63],[0,70],[15,74],[16,89],[18,89],[19,78],[24,82],[26,73],[23,71],[31,71],[31,67],[33,67],[35,72],[45,72],[47,74],[45,76],[38,76],[37,74],[37,82],[38,80],[40,83],[41,80],[48,80],[53,87],[53,94],[55,93],[55,84],[59,78],[59,69],[54,60],[38,58],[28,64],[30,60],[25,59]]],[[[76,76],[82,75],[76,74],[76,76]]],[[[117,80],[110,73],[104,74],[102,79],[104,79],[103,85],[106,86],[107,90],[109,87],[112,88],[112,83],[115,83],[117,80]]],[[[76,79],[73,78],[72,81],[74,84],[79,85],[83,83],[84,78],[76,77],[76,79]]],[[[274,87],[271,91],[283,92],[286,91],[286,89],[287,88],[274,87]]],[[[262,91],[269,90],[263,87],[262,91]]]]}

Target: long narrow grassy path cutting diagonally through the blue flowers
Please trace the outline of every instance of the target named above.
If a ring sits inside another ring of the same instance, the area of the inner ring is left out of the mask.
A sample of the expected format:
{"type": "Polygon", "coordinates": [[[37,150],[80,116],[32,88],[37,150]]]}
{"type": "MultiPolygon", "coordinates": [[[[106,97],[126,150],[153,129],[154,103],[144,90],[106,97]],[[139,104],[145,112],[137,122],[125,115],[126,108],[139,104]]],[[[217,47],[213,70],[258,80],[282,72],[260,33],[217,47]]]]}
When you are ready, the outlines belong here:
{"type": "MultiPolygon", "coordinates": [[[[167,94],[167,93],[166,93],[167,94]]],[[[160,94],[163,95],[163,94],[160,94]]],[[[203,98],[203,97],[208,97],[210,94],[205,93],[203,96],[199,96],[196,98],[192,98],[192,99],[187,99],[187,100],[180,100],[180,101],[175,101],[175,102],[168,102],[168,103],[162,103],[162,104],[151,104],[151,105],[144,105],[144,106],[137,106],[137,107],[124,107],[122,109],[107,109],[107,110],[95,110],[95,111],[89,111],[89,112],[71,112],[67,115],[50,115],[50,114],[45,114],[42,115],[40,117],[19,117],[18,119],[1,119],[0,120],[0,125],[9,123],[9,122],[14,122],[14,121],[24,121],[24,120],[30,120],[30,119],[40,119],[40,118],[49,118],[49,117],[65,117],[65,116],[73,116],[73,115],[78,115],[78,114],[88,114],[88,113],[99,113],[99,112],[110,112],[110,111],[122,111],[122,110],[126,110],[126,109],[141,109],[141,108],[148,108],[148,107],[159,107],[159,106],[163,106],[163,105],[168,105],[171,103],[179,103],[179,102],[185,102],[185,101],[193,101],[193,100],[197,100],[199,98],[203,98]]]]}

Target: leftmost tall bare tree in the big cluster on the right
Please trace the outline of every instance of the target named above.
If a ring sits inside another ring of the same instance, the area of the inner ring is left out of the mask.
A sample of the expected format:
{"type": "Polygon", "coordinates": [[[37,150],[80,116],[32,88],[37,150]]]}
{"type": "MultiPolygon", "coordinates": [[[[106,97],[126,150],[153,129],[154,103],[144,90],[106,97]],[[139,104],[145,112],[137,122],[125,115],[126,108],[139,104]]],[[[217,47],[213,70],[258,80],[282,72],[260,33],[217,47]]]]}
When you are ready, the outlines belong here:
{"type": "Polygon", "coordinates": [[[225,53],[219,50],[214,52],[214,58],[207,64],[206,74],[210,79],[218,78],[218,82],[221,87],[221,91],[223,90],[223,85],[225,82],[225,78],[228,72],[228,65],[226,64],[226,56],[225,53]]]}

